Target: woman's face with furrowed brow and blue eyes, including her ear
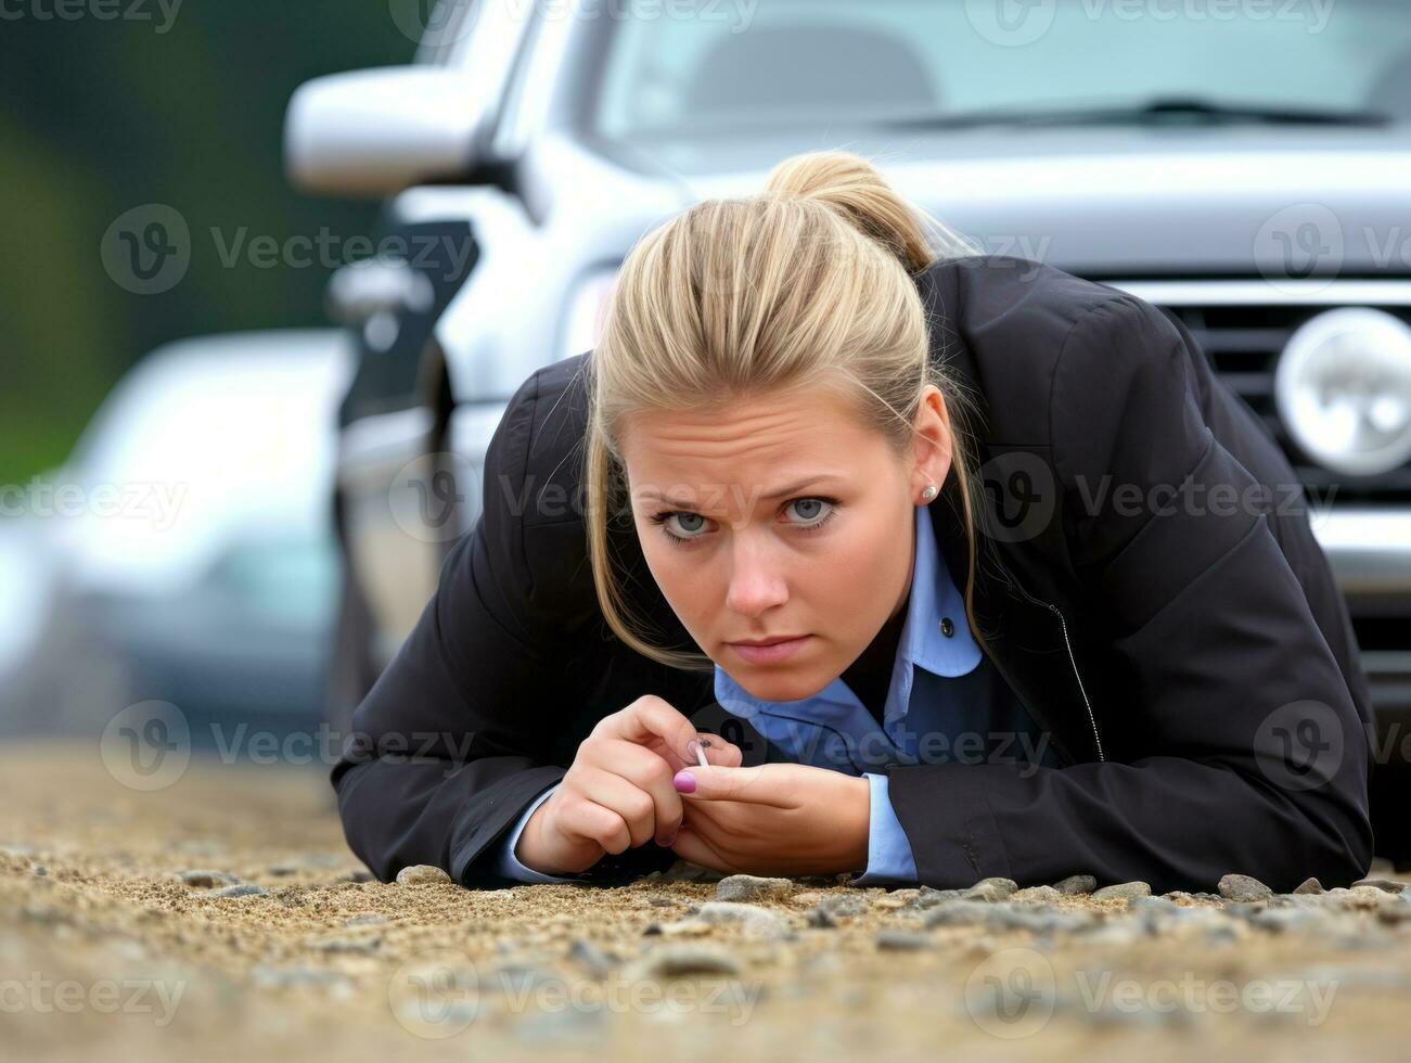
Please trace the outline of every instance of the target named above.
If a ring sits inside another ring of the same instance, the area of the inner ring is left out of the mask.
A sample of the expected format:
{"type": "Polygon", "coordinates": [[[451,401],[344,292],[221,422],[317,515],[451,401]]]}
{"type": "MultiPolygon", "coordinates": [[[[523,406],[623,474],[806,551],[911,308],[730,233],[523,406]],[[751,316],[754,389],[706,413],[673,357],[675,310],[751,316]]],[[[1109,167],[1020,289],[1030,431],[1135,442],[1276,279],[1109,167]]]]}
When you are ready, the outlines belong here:
{"type": "Polygon", "coordinates": [[[725,414],[625,418],[648,567],[696,644],[755,697],[817,693],[906,604],[914,507],[951,460],[933,385],[916,426],[902,460],[828,388],[725,414]],[[801,638],[776,651],[732,645],[782,637],[801,638]]]}

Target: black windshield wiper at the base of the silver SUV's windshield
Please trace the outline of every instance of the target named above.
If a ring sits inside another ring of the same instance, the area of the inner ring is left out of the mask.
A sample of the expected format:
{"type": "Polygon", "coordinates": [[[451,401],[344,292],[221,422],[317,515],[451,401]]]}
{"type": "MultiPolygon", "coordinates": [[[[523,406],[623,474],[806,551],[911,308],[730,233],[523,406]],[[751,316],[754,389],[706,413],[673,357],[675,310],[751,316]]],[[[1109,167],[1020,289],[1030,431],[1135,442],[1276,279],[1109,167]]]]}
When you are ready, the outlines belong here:
{"type": "Polygon", "coordinates": [[[1390,114],[1315,107],[1271,107],[1213,103],[1198,97],[1161,97],[1134,107],[985,107],[954,114],[892,119],[895,128],[974,128],[978,126],[1164,126],[1164,124],[1268,124],[1268,126],[1388,126],[1390,114]]]}

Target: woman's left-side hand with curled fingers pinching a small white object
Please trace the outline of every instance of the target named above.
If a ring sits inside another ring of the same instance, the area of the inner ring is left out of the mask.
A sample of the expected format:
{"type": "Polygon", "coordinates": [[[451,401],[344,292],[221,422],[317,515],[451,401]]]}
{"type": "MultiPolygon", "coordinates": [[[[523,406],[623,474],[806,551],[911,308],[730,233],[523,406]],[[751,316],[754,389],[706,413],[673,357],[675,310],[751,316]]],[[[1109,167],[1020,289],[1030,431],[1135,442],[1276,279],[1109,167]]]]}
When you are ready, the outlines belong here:
{"type": "Polygon", "coordinates": [[[622,853],[653,837],[669,846],[682,823],[672,776],[700,769],[693,743],[708,738],[713,765],[738,767],[739,748],[697,731],[672,704],[643,695],[598,720],[574,754],[569,774],[525,824],[515,858],[547,875],[583,871],[604,853],[622,853]]]}

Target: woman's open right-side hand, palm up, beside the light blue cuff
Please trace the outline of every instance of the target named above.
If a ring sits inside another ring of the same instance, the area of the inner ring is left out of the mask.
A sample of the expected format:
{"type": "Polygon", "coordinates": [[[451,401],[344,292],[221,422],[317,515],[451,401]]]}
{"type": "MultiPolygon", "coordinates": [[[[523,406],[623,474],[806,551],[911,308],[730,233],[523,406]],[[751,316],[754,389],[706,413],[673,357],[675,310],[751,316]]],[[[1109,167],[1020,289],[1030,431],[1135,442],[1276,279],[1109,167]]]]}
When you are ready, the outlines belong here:
{"type": "Polygon", "coordinates": [[[809,875],[868,864],[868,781],[807,764],[687,767],[686,817],[672,851],[728,874],[809,875]]]}

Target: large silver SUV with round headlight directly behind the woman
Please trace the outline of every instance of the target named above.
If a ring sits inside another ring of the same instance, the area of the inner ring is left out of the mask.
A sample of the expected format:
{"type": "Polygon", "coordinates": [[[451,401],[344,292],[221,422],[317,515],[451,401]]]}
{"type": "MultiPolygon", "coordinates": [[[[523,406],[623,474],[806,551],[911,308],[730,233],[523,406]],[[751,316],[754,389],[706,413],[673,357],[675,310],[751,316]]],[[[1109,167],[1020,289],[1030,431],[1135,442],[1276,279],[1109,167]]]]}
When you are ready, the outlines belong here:
{"type": "MultiPolygon", "coordinates": [[[[310,82],[286,121],[296,185],[388,196],[387,233],[418,248],[330,294],[363,350],[341,411],[336,717],[476,521],[504,401],[591,349],[631,244],[759,191],[787,155],[847,147],[985,251],[1134,292],[1199,340],[1307,488],[1381,721],[1374,806],[1404,792],[1401,3],[443,0],[425,30],[415,65],[310,82]]],[[[1408,851],[1404,830],[1379,823],[1381,850],[1408,851]]]]}

